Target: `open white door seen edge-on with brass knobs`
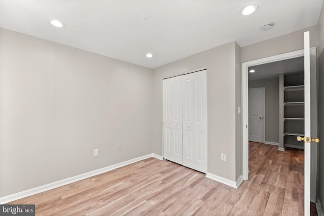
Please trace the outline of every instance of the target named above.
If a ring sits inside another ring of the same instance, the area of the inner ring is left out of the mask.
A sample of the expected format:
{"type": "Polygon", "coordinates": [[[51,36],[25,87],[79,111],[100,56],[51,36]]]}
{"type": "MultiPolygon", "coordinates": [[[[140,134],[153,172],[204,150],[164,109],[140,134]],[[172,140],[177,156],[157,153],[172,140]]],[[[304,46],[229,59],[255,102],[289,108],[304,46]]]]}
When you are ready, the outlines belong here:
{"type": "Polygon", "coordinates": [[[304,33],[305,137],[304,141],[304,215],[310,215],[310,201],[316,197],[317,179],[317,90],[315,50],[309,47],[309,31],[304,33]],[[311,61],[312,59],[312,61],[311,61]],[[315,87],[314,87],[315,85],[315,87]],[[315,97],[314,95],[315,94],[315,97]],[[313,138],[313,139],[312,139],[313,138]],[[315,164],[314,164],[315,163],[315,164]],[[316,166],[316,167],[314,167],[316,166]]]}

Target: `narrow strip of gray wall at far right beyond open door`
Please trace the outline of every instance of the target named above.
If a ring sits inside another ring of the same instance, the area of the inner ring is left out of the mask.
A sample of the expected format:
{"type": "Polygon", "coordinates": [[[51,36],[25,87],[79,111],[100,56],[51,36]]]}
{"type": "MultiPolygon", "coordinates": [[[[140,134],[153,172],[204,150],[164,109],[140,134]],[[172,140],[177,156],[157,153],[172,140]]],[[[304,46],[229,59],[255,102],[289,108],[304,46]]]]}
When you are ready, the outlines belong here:
{"type": "Polygon", "coordinates": [[[324,4],[318,20],[318,71],[319,71],[319,162],[318,162],[318,195],[322,208],[324,207],[324,4]]]}

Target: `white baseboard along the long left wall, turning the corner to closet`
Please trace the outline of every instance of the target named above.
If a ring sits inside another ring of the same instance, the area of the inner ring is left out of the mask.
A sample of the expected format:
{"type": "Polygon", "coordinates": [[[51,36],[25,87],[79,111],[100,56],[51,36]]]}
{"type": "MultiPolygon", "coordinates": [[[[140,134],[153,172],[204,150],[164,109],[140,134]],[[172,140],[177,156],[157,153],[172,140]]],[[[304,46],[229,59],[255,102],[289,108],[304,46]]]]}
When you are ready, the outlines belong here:
{"type": "Polygon", "coordinates": [[[31,188],[31,189],[21,191],[21,192],[15,193],[15,194],[0,197],[0,204],[5,204],[5,203],[8,203],[8,202],[12,202],[12,201],[17,200],[17,199],[21,199],[21,198],[31,196],[31,195],[34,195],[34,194],[37,194],[37,193],[41,193],[41,192],[48,191],[48,190],[51,190],[51,189],[54,189],[54,188],[58,188],[58,187],[61,187],[61,186],[64,186],[64,185],[67,185],[67,184],[70,184],[70,183],[73,183],[73,182],[83,180],[83,179],[87,179],[89,177],[93,177],[93,176],[102,174],[102,173],[104,173],[106,171],[110,171],[112,169],[123,167],[123,166],[126,166],[128,164],[135,163],[137,161],[144,160],[144,159],[147,159],[147,158],[150,158],[150,157],[155,157],[155,158],[157,158],[159,160],[163,160],[162,156],[154,154],[154,153],[144,155],[144,156],[137,157],[137,158],[134,158],[134,159],[131,159],[131,160],[127,160],[127,161],[124,161],[124,162],[113,164],[113,165],[110,165],[110,166],[107,166],[107,167],[104,167],[104,168],[100,168],[100,169],[96,169],[96,170],[93,170],[93,171],[90,171],[90,172],[86,172],[85,174],[80,174],[80,175],[70,177],[70,178],[67,178],[67,179],[63,179],[63,180],[60,180],[60,181],[57,181],[57,182],[53,182],[53,183],[50,183],[50,184],[47,184],[47,185],[42,185],[42,186],[39,186],[39,187],[36,187],[36,188],[31,188]]]}

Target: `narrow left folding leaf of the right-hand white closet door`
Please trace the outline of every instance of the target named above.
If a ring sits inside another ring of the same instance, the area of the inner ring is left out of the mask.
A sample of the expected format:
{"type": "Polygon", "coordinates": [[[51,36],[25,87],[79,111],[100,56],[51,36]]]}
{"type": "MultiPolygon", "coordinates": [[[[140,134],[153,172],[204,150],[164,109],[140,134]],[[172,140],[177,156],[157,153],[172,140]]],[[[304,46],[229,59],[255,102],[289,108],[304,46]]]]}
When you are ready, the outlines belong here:
{"type": "Polygon", "coordinates": [[[182,76],[183,165],[194,168],[193,74],[182,76]]]}

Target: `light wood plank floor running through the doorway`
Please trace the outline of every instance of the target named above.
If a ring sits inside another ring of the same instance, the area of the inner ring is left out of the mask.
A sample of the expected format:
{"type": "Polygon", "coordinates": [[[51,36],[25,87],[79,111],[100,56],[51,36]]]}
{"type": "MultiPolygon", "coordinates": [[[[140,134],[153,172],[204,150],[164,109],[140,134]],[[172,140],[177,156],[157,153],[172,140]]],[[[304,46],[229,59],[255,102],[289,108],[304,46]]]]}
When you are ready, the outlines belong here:
{"type": "Polygon", "coordinates": [[[249,181],[238,189],[148,158],[9,204],[35,204],[36,215],[303,215],[304,151],[249,146],[249,181]]]}

